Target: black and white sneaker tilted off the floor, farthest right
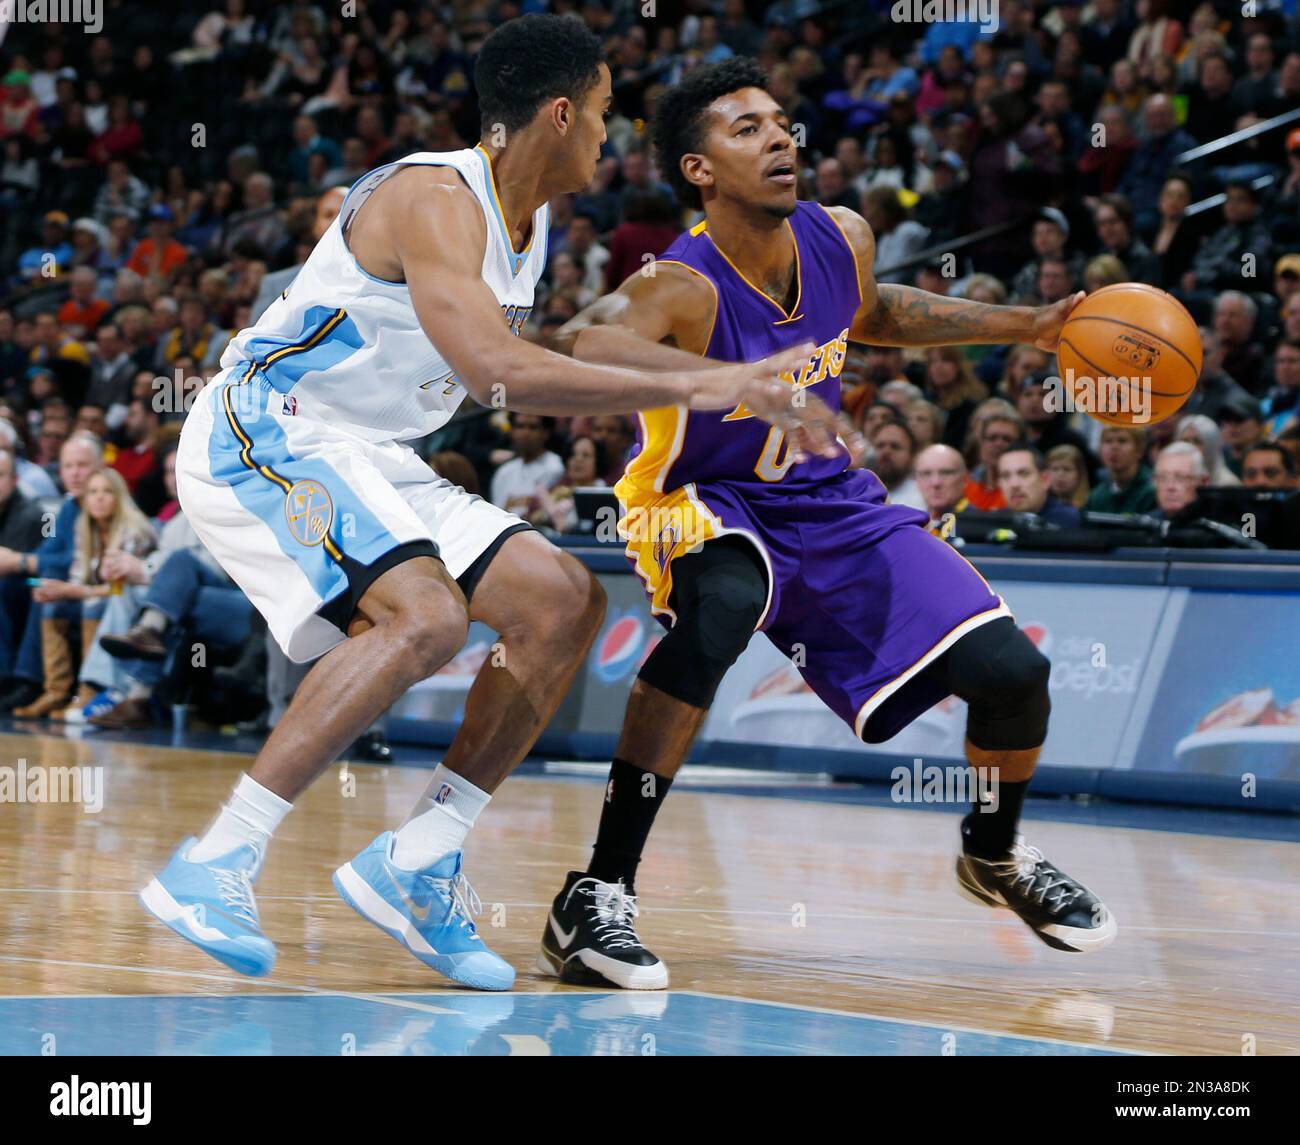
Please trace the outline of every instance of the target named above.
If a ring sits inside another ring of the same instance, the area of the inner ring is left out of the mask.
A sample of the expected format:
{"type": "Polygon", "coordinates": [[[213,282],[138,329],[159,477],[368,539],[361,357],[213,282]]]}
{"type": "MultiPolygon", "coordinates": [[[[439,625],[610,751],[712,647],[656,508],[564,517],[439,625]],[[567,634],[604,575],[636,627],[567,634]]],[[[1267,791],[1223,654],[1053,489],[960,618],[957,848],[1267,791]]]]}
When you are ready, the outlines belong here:
{"type": "Polygon", "coordinates": [[[1056,950],[1091,954],[1115,938],[1115,916],[1106,905],[1020,836],[1001,859],[958,856],[957,885],[971,902],[1015,911],[1056,950]]]}

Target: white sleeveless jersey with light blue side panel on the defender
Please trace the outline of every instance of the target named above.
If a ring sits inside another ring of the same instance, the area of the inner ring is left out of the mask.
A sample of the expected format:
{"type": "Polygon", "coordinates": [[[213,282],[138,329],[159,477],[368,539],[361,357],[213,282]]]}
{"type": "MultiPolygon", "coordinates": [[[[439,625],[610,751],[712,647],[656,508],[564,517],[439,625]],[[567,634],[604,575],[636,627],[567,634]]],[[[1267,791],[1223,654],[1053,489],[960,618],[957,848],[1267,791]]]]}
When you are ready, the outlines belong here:
{"type": "Polygon", "coordinates": [[[421,328],[406,283],[368,274],[343,240],[344,227],[374,188],[413,165],[455,168],[482,204],[482,279],[517,334],[546,266],[549,211],[543,204],[533,213],[532,238],[516,252],[488,152],[473,147],[417,152],[358,179],[289,290],[221,356],[235,377],[260,373],[292,403],[296,416],[370,442],[424,437],[445,425],[465,396],[421,328]]]}

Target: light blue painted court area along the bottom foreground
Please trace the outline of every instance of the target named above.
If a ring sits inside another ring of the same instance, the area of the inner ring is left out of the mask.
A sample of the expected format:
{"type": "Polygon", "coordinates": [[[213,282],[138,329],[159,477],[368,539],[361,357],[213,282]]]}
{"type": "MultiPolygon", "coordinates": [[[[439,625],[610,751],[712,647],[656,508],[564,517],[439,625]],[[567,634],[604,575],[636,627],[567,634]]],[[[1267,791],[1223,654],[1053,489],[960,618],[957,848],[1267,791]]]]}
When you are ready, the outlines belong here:
{"type": "Polygon", "coordinates": [[[0,1054],[1130,1055],[697,992],[0,998],[0,1054]]]}

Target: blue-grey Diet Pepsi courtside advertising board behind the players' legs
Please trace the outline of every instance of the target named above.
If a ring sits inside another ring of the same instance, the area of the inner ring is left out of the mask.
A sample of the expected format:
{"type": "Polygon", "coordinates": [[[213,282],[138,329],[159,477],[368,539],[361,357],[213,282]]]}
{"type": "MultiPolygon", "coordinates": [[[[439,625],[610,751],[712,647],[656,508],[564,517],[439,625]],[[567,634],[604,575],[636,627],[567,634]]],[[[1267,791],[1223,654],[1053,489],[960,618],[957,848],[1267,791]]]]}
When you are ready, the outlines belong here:
{"type": "MultiPolygon", "coordinates": [[[[551,754],[608,756],[632,681],[663,636],[634,576],[599,580],[606,620],[586,671],[547,729],[551,754]]],[[[1300,595],[992,584],[1052,660],[1043,767],[1300,782],[1300,595]]],[[[474,673],[502,652],[490,629],[472,625],[460,655],[411,689],[394,715],[454,727],[474,673]]],[[[965,730],[966,706],[950,697],[889,742],[862,743],[759,636],[723,681],[701,746],[707,756],[710,745],[727,745],[727,758],[736,759],[736,746],[751,745],[741,759],[755,767],[767,762],[764,746],[798,749],[783,751],[781,767],[868,776],[880,775],[889,758],[961,760],[965,730]]]]}

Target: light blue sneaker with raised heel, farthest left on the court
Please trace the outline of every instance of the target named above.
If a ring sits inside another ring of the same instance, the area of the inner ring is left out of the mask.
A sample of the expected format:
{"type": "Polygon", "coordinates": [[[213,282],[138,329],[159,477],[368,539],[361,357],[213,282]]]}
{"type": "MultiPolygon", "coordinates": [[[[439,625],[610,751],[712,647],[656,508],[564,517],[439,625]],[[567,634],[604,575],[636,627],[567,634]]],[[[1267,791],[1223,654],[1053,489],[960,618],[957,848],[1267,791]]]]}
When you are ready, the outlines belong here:
{"type": "Polygon", "coordinates": [[[270,973],[276,947],[261,933],[252,895],[261,862],[256,847],[246,843],[220,858],[191,863],[186,855],[195,842],[187,838],[176,849],[166,869],[140,892],[140,903],[231,970],[252,977],[270,973]]]}

